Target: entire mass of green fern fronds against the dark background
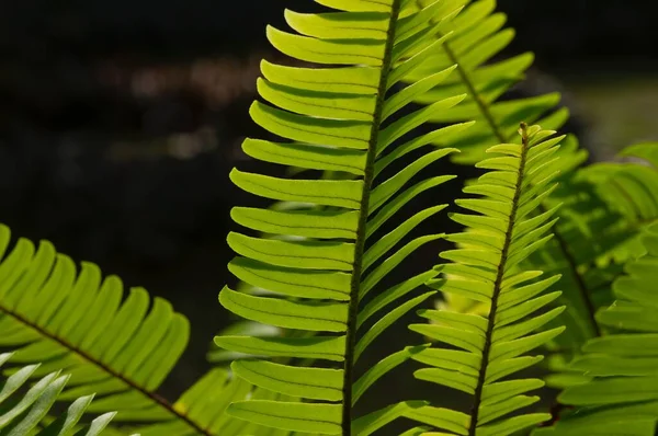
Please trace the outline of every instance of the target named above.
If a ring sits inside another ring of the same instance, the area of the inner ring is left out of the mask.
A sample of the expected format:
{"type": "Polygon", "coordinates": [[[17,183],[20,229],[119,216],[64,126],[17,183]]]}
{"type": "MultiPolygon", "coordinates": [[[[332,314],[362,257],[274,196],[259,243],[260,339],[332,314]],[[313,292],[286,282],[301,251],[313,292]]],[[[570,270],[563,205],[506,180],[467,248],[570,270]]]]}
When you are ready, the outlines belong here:
{"type": "Polygon", "coordinates": [[[186,345],[184,317],[144,289],[124,296],[93,264],[78,272],[47,242],[19,240],[4,255],[0,227],[0,347],[11,352],[0,435],[368,435],[397,418],[408,436],[654,435],[656,353],[643,345],[656,330],[658,145],[587,164],[575,137],[554,136],[568,117],[559,95],[500,100],[532,55],[492,61],[513,37],[492,0],[316,1],[332,11],[286,11],[298,34],[268,28],[279,50],[315,65],[261,66],[265,103],[250,113],[284,140],[243,144],[287,176],[230,174],[276,202],[231,210],[248,234],[228,236],[240,285],[219,300],[246,321],[212,353],[230,367],[169,403],[157,390],[186,345]],[[449,159],[488,171],[462,181],[478,195],[455,202],[474,213],[451,215],[465,229],[426,234],[417,228],[449,205],[415,199],[454,185],[449,159]],[[456,245],[441,253],[451,262],[392,280],[440,239],[456,245]],[[436,310],[410,325],[427,341],[363,364],[434,296],[436,310]],[[545,376],[524,372],[537,347],[545,376]],[[469,410],[409,392],[355,416],[398,367],[465,392],[469,410]],[[524,412],[544,383],[564,390],[552,413],[524,412]],[[102,415],[82,424],[84,412],[102,415]]]}

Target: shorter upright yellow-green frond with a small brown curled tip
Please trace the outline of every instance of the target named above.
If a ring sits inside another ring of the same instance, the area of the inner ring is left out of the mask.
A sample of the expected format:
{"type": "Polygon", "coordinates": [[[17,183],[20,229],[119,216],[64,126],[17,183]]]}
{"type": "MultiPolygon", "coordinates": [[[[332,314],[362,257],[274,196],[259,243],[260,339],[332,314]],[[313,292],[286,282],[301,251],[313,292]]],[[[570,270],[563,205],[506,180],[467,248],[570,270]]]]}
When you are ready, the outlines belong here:
{"type": "Polygon", "coordinates": [[[538,379],[503,378],[540,362],[541,356],[521,356],[558,335],[564,328],[540,330],[564,308],[541,311],[560,292],[544,294],[559,276],[520,267],[523,261],[551,239],[555,209],[535,214],[542,198],[555,187],[554,157],[563,137],[538,126],[522,125],[521,145],[490,148],[496,157],[479,168],[492,170],[464,192],[481,197],[457,200],[478,215],[454,214],[467,230],[449,239],[461,248],[443,252],[452,263],[441,266],[444,278],[430,286],[489,306],[487,315],[447,310],[422,311],[433,324],[413,324],[411,330],[458,349],[428,348],[413,356],[431,368],[416,377],[474,397],[469,414],[435,406],[416,409],[409,415],[455,435],[504,436],[551,417],[548,414],[509,414],[538,401],[524,395],[541,388],[538,379]],[[548,234],[548,236],[547,236],[548,234]],[[538,313],[535,313],[540,311],[538,313]]]}

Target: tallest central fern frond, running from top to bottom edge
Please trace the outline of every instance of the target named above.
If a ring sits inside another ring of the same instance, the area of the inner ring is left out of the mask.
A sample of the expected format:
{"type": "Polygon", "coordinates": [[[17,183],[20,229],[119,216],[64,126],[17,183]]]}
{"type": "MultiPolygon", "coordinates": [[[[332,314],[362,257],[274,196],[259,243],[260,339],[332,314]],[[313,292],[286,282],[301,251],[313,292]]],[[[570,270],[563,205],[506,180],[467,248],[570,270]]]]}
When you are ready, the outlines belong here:
{"type": "Polygon", "coordinates": [[[398,403],[352,416],[363,393],[418,348],[386,357],[359,379],[354,365],[389,325],[433,294],[410,297],[434,271],[392,287],[384,284],[405,257],[441,238],[410,233],[445,206],[418,211],[399,226],[392,226],[392,218],[418,195],[453,179],[416,182],[423,169],[456,151],[433,144],[470,125],[413,134],[464,99],[451,95],[408,111],[419,94],[449,80],[454,66],[416,74],[408,85],[402,80],[440,49],[446,36],[436,35],[465,0],[439,0],[421,9],[409,0],[317,1],[338,11],[286,11],[298,34],[269,27],[268,37],[282,53],[319,68],[263,61],[258,90],[269,103],[256,102],[250,110],[257,124],[287,141],[247,139],[242,148],[256,159],[320,170],[326,177],[300,179],[307,171],[290,179],[231,172],[232,182],[247,192],[307,206],[232,209],[237,223],[265,234],[230,233],[228,243],[239,256],[229,269],[268,295],[228,287],[219,295],[222,305],[242,318],[303,333],[222,335],[216,343],[265,356],[235,362],[232,369],[261,389],[299,399],[237,402],[229,408],[232,415],[293,432],[367,435],[417,406],[398,403]]]}

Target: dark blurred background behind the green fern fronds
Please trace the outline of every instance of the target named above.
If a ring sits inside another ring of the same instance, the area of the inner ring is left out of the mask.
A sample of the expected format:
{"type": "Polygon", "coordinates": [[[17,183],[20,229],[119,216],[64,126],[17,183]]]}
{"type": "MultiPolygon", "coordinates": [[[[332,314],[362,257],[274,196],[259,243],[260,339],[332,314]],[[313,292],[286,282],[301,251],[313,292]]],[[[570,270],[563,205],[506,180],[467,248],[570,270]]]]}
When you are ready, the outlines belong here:
{"type": "MultiPolygon", "coordinates": [[[[280,57],[264,26],[284,26],[283,8],[311,11],[313,1],[0,1],[0,222],[190,318],[170,398],[207,369],[208,344],[230,322],[217,302],[232,282],[228,210],[256,199],[227,174],[258,171],[239,145],[259,135],[247,108],[259,60],[280,57]]],[[[658,140],[653,2],[500,0],[499,9],[518,30],[506,55],[537,56],[515,94],[561,91],[569,128],[594,159],[658,140]]],[[[431,264],[436,252],[419,255],[431,264]]],[[[417,341],[407,340],[393,344],[417,341]]],[[[409,380],[387,382],[394,392],[409,380]]]]}

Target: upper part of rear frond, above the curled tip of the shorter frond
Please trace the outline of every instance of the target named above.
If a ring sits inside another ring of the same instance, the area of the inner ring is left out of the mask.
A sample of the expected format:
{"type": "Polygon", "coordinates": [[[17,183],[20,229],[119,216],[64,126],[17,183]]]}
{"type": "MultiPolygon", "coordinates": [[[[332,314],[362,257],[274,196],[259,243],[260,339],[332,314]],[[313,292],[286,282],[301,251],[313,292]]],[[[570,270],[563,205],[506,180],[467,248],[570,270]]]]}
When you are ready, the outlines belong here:
{"type": "MultiPolygon", "coordinates": [[[[423,4],[426,0],[416,0],[423,4]]],[[[467,94],[463,104],[438,114],[432,119],[444,123],[475,121],[463,135],[444,138],[443,145],[462,152],[453,156],[460,163],[474,164],[485,158],[485,150],[513,140],[519,124],[537,122],[544,128],[558,129],[567,121],[566,110],[555,111],[557,93],[518,100],[500,97],[525,77],[534,56],[525,53],[510,59],[492,60],[514,38],[506,28],[507,16],[496,12],[496,0],[467,1],[464,11],[444,28],[451,38],[413,73],[411,80],[429,71],[457,65],[456,74],[418,96],[432,102],[449,95],[467,94]],[[549,115],[549,116],[547,116],[549,115]]]]}

